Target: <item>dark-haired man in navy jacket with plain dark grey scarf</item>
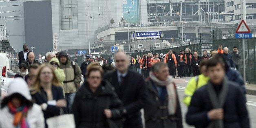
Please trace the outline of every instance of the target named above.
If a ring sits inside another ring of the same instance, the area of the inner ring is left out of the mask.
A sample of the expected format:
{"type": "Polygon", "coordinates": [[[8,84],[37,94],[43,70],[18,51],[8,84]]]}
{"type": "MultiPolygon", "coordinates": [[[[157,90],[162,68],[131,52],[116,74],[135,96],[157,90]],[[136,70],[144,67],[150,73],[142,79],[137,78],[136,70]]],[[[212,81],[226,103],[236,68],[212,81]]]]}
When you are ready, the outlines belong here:
{"type": "Polygon", "coordinates": [[[192,96],[186,122],[196,128],[249,128],[245,98],[238,84],[225,76],[225,62],[207,62],[210,80],[192,96]]]}

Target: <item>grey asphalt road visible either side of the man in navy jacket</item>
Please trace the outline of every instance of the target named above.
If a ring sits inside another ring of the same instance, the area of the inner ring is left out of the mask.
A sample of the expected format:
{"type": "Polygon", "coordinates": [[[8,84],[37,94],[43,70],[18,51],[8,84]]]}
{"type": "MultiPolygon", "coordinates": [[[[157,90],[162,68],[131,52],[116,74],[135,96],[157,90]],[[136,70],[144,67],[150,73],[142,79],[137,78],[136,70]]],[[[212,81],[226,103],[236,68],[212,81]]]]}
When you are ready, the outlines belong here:
{"type": "MultiPolygon", "coordinates": [[[[184,128],[194,128],[194,126],[189,126],[185,123],[185,114],[188,110],[187,106],[182,102],[184,96],[184,90],[191,77],[186,78],[174,78],[174,82],[177,85],[179,101],[181,103],[181,111],[183,116],[183,127],[184,128]]],[[[256,96],[255,95],[246,95],[247,96],[247,109],[249,113],[250,126],[251,128],[256,128],[256,96]]]]}

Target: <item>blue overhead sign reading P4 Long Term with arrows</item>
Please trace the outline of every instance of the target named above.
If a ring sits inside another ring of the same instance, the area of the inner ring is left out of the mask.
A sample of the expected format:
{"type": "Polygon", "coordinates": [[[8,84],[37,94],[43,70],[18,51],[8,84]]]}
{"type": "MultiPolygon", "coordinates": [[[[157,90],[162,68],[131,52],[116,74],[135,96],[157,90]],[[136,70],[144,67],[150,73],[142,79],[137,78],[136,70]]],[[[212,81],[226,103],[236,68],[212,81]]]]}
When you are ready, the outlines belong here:
{"type": "Polygon", "coordinates": [[[158,39],[161,37],[161,31],[136,32],[137,39],[158,39]]]}

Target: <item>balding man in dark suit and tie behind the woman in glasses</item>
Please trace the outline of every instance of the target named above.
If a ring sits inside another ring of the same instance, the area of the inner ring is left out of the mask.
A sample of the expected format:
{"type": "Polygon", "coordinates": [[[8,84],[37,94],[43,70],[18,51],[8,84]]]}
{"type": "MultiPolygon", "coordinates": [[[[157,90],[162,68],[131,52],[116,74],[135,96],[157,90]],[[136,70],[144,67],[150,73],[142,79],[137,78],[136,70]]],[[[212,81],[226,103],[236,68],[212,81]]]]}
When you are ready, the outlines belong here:
{"type": "Polygon", "coordinates": [[[124,128],[142,128],[140,109],[146,102],[146,85],[142,75],[128,71],[130,61],[124,51],[115,53],[117,70],[107,73],[108,79],[115,88],[119,99],[124,103],[123,115],[126,117],[124,128]]]}

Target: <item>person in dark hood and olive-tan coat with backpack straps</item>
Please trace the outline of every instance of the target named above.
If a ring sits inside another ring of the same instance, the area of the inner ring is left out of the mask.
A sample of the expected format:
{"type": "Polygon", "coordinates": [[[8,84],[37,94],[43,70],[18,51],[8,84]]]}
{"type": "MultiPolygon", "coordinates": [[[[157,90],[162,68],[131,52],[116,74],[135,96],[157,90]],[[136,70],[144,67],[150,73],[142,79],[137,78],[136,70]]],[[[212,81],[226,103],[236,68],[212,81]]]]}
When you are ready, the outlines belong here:
{"type": "Polygon", "coordinates": [[[80,86],[82,72],[77,63],[70,60],[65,51],[60,52],[60,68],[64,70],[66,75],[64,80],[65,98],[67,101],[67,111],[71,109],[75,98],[75,92],[80,86]]]}

